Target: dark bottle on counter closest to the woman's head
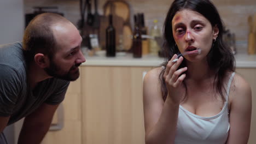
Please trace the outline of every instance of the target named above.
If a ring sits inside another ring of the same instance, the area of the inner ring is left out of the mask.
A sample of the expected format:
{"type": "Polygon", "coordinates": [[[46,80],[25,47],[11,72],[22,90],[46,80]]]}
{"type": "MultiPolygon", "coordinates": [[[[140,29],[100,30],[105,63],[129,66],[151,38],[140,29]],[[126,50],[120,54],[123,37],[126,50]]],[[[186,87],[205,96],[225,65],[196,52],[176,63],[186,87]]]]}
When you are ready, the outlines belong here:
{"type": "Polygon", "coordinates": [[[133,31],[133,37],[132,37],[132,52],[133,57],[139,58],[142,57],[142,37],[141,37],[141,31],[139,29],[139,21],[138,16],[134,16],[135,21],[135,27],[133,31]]]}

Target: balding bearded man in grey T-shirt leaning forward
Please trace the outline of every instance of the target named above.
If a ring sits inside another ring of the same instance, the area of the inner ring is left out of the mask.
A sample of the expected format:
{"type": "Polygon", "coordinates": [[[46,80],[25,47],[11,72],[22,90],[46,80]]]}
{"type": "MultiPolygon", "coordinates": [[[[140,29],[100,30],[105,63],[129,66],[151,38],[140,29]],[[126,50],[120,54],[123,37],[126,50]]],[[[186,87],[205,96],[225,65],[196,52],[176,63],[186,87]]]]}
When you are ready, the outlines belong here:
{"type": "Polygon", "coordinates": [[[36,16],[23,43],[0,47],[0,143],[4,128],[25,117],[19,143],[40,143],[49,130],[69,81],[85,62],[82,37],[67,19],[51,13],[36,16]]]}

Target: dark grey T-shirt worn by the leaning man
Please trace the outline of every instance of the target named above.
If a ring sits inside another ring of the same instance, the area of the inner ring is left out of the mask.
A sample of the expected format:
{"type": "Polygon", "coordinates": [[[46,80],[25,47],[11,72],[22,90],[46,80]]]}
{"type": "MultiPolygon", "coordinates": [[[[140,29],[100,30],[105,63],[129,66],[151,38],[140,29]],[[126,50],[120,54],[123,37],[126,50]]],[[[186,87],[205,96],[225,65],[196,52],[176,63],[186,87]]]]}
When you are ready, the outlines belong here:
{"type": "Polygon", "coordinates": [[[41,104],[60,104],[69,81],[50,78],[30,89],[27,63],[21,43],[0,46],[0,116],[10,116],[9,124],[26,117],[41,104]]]}

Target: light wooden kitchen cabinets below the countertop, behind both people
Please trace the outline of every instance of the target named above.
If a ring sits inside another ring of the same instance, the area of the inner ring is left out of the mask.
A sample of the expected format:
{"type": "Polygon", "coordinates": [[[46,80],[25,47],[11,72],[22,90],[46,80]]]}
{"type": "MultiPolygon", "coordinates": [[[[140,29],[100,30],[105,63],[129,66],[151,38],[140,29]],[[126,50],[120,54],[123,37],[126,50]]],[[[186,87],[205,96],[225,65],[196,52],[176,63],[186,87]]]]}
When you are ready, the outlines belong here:
{"type": "MultiPolygon", "coordinates": [[[[144,144],[143,73],[150,69],[153,67],[80,67],[80,78],[71,82],[63,101],[63,128],[49,131],[42,143],[144,144]]],[[[256,68],[237,68],[236,72],[252,88],[248,144],[253,144],[256,141],[256,68]]]]}

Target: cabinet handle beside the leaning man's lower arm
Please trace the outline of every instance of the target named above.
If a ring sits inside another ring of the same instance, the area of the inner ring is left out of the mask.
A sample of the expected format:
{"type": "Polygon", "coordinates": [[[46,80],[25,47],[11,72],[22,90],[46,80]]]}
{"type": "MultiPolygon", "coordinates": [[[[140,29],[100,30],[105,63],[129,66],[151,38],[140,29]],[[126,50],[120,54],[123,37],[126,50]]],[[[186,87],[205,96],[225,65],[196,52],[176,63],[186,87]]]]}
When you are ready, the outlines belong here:
{"type": "Polygon", "coordinates": [[[58,109],[56,110],[57,113],[57,123],[56,124],[51,124],[49,131],[58,131],[63,128],[64,125],[64,115],[63,115],[63,105],[62,103],[59,105],[58,109]]]}

